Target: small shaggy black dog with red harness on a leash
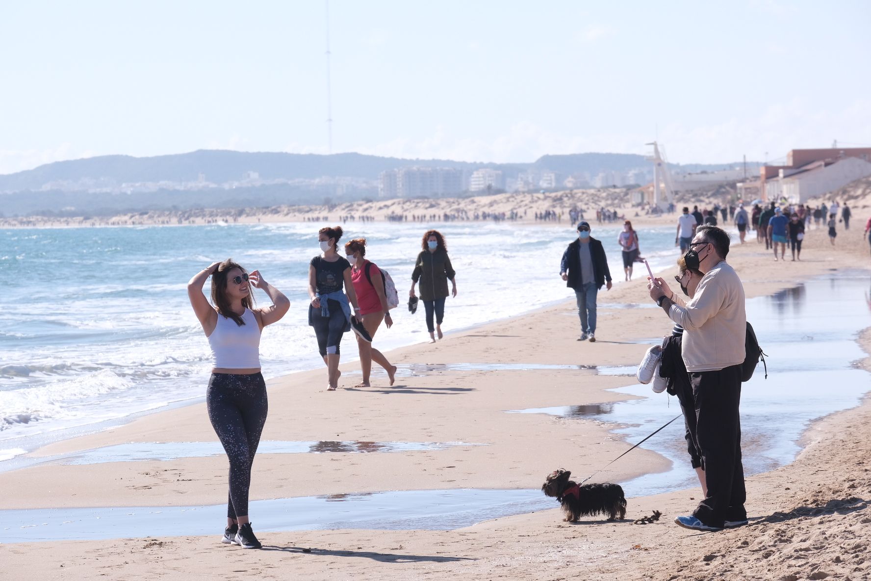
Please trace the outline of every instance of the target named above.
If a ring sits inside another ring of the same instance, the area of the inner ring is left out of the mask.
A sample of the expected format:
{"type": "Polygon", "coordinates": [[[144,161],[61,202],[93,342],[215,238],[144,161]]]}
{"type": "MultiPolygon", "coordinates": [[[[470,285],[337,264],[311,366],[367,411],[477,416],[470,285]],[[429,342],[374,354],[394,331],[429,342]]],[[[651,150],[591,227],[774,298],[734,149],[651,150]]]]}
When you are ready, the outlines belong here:
{"type": "Polygon", "coordinates": [[[565,512],[566,523],[577,523],[578,517],[608,515],[608,520],[626,516],[626,498],[619,484],[584,484],[578,486],[569,480],[569,470],[554,470],[542,484],[542,491],[548,497],[556,498],[565,512]],[[577,492],[576,492],[577,491],[577,492]]]}

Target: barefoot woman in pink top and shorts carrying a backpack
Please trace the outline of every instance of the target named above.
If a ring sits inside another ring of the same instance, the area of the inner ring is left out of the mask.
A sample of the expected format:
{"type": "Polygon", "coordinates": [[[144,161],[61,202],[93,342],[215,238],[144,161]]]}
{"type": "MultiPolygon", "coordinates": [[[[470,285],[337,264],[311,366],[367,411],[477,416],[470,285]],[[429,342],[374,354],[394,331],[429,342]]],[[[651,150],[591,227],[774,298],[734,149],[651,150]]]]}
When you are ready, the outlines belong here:
{"type": "MultiPolygon", "coordinates": [[[[366,256],[366,239],[357,238],[345,244],[345,254],[351,263],[351,282],[354,283],[354,293],[357,294],[357,303],[360,306],[360,319],[369,336],[375,339],[375,331],[381,326],[381,321],[387,322],[387,328],[393,326],[393,319],[387,306],[387,297],[384,294],[384,280],[381,278],[381,270],[366,256]],[[367,276],[368,267],[368,276],[367,276]]],[[[387,371],[390,385],[393,385],[396,374],[396,366],[391,365],[381,351],[372,347],[368,341],[357,340],[360,349],[360,368],[363,372],[363,381],[355,385],[356,388],[368,388],[369,374],[372,371],[372,361],[381,365],[387,371]]]]}

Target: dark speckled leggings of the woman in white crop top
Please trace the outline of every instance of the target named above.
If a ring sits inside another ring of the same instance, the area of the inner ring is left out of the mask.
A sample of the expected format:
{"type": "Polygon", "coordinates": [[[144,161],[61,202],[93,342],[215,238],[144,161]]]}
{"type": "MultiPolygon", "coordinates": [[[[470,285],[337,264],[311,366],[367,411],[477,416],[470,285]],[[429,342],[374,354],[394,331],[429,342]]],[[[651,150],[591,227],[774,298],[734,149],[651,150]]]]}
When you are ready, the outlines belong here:
{"type": "Polygon", "coordinates": [[[263,375],[213,373],[206,392],[209,421],[230,460],[230,493],[226,516],[248,514],[251,466],[267,422],[267,384],[263,375]]]}

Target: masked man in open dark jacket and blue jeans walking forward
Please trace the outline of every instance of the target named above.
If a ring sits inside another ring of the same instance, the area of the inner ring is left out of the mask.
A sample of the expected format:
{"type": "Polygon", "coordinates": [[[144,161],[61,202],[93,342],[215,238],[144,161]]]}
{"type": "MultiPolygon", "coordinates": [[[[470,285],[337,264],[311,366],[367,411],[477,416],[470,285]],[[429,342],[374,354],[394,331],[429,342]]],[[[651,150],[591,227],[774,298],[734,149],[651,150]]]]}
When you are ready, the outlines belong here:
{"type": "Polygon", "coordinates": [[[577,240],[565,249],[559,274],[567,281],[565,286],[574,289],[577,298],[577,315],[581,319],[581,336],[577,341],[596,341],[596,295],[605,280],[611,290],[611,271],[602,243],[590,236],[588,222],[577,225],[577,240]]]}

